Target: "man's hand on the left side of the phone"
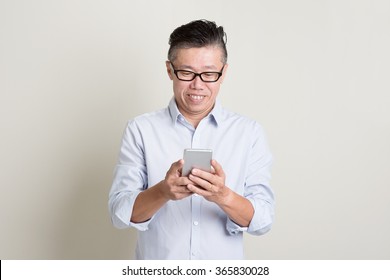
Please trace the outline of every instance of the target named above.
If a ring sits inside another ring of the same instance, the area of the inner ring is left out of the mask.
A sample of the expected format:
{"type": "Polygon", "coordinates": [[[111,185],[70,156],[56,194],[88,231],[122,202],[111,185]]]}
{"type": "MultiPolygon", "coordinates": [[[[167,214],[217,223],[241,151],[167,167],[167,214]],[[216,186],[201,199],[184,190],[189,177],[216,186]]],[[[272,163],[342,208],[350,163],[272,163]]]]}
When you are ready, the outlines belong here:
{"type": "Polygon", "coordinates": [[[181,177],[184,160],[174,162],[169,168],[161,185],[163,196],[169,200],[180,200],[192,195],[187,185],[193,184],[188,177],[181,177]]]}

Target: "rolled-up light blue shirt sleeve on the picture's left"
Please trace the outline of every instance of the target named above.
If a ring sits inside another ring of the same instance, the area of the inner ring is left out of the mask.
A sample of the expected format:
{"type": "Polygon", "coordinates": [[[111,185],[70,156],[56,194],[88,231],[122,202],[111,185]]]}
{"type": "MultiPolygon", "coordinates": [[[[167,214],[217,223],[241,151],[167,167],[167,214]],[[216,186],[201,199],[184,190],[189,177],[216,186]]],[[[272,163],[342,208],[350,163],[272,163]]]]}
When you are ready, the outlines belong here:
{"type": "Polygon", "coordinates": [[[109,213],[115,227],[135,227],[141,231],[148,229],[152,219],[143,223],[130,222],[134,202],[147,185],[142,135],[135,121],[130,121],[122,137],[119,160],[108,199],[109,213]]]}

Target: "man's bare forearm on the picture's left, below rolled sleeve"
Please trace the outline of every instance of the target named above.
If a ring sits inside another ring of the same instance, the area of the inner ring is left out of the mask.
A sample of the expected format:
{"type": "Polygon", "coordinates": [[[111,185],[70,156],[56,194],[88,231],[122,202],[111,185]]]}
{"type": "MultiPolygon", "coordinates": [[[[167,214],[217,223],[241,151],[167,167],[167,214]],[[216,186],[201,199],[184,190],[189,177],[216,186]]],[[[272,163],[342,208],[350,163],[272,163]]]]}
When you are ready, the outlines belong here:
{"type": "Polygon", "coordinates": [[[133,206],[131,222],[141,223],[149,220],[168,201],[161,192],[162,184],[164,184],[164,181],[148,188],[137,196],[133,206]]]}

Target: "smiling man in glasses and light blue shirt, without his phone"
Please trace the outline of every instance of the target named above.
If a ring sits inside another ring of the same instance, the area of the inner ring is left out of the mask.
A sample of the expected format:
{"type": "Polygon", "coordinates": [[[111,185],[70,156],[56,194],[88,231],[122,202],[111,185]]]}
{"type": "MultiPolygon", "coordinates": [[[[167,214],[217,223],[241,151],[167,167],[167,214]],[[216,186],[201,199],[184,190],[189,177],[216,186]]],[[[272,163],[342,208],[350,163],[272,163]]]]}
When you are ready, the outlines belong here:
{"type": "MultiPolygon", "coordinates": [[[[166,109],[129,121],[109,195],[118,228],[138,229],[137,259],[243,259],[243,232],[272,225],[272,156],[259,124],[221,107],[223,27],[206,20],[170,36],[166,109]],[[181,176],[185,148],[213,150],[212,172],[181,176]]],[[[239,98],[239,96],[237,96],[239,98]]]]}

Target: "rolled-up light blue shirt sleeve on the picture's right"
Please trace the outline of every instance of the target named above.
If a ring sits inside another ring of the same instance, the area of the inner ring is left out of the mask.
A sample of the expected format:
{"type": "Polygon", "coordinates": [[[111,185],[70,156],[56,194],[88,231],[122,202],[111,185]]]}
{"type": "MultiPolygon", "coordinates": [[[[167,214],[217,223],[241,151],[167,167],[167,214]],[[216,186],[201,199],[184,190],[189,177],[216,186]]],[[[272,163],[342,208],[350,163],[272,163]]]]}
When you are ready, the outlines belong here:
{"type": "Polygon", "coordinates": [[[274,193],[269,183],[273,157],[260,125],[256,124],[253,131],[244,197],[251,202],[254,214],[248,227],[241,227],[228,219],[226,227],[230,234],[246,231],[253,235],[262,235],[271,229],[274,220],[274,193]]]}

